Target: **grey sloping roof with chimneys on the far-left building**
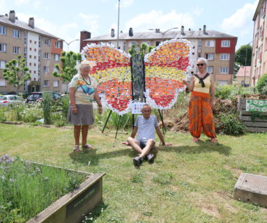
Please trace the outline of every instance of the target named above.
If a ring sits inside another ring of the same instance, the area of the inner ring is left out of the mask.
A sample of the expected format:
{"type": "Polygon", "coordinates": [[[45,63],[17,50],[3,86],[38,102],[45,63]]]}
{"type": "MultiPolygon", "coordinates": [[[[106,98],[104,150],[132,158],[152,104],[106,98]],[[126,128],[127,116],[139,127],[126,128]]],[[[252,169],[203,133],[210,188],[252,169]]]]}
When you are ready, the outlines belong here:
{"type": "Polygon", "coordinates": [[[15,26],[15,27],[18,27],[20,29],[24,29],[24,30],[27,30],[27,31],[31,31],[31,32],[34,32],[34,33],[40,33],[40,34],[43,34],[44,36],[49,36],[49,37],[52,37],[52,38],[56,38],[58,39],[58,37],[56,36],[53,36],[52,34],[50,33],[47,33],[46,31],[43,31],[43,29],[39,29],[37,28],[36,26],[34,26],[34,29],[31,28],[29,26],[28,23],[26,22],[22,22],[20,20],[15,20],[15,22],[11,22],[9,20],[9,17],[6,16],[6,15],[1,15],[0,16],[0,24],[3,23],[3,24],[8,24],[10,26],[15,26]]]}

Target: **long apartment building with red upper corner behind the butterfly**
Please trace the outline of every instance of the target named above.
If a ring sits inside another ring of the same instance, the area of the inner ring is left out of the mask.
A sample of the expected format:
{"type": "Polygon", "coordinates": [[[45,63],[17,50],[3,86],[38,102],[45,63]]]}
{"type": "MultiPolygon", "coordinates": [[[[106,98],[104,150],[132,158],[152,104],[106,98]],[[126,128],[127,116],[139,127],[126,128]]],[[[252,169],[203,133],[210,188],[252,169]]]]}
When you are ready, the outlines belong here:
{"type": "MultiPolygon", "coordinates": [[[[128,52],[132,44],[158,46],[162,41],[172,38],[183,38],[188,40],[194,48],[194,61],[197,63],[199,57],[208,59],[207,71],[215,75],[215,82],[218,84],[232,84],[234,77],[234,54],[236,49],[237,37],[218,31],[206,30],[206,25],[203,29],[194,31],[188,29],[185,31],[184,26],[181,26],[180,31],[170,29],[169,31],[154,31],[137,32],[132,28],[128,33],[119,33],[119,49],[128,52]]],[[[91,38],[91,33],[81,31],[80,48],[87,44],[109,43],[117,45],[117,37],[114,29],[111,33],[96,36],[91,38]]],[[[189,72],[197,72],[197,67],[194,66],[189,72]]]]}

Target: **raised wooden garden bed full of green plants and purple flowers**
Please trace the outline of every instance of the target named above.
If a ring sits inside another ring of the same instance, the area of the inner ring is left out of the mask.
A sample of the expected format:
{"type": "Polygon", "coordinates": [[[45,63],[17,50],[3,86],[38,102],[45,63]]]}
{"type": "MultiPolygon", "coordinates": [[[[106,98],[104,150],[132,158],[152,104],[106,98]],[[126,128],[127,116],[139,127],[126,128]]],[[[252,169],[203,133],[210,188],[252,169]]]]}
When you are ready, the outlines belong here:
{"type": "Polygon", "coordinates": [[[9,155],[1,157],[0,164],[3,223],[80,222],[102,199],[105,174],[23,162],[9,155]]]}

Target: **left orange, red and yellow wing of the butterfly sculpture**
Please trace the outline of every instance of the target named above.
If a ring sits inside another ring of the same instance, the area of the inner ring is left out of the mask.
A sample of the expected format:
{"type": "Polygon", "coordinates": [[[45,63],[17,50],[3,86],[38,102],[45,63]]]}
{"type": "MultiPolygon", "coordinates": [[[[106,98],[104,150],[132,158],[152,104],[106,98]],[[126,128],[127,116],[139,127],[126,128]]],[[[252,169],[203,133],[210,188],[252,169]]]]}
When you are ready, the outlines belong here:
{"type": "Polygon", "coordinates": [[[87,45],[82,55],[96,62],[91,75],[98,82],[97,91],[104,96],[109,109],[120,115],[129,112],[132,103],[130,55],[107,44],[87,45]]]}

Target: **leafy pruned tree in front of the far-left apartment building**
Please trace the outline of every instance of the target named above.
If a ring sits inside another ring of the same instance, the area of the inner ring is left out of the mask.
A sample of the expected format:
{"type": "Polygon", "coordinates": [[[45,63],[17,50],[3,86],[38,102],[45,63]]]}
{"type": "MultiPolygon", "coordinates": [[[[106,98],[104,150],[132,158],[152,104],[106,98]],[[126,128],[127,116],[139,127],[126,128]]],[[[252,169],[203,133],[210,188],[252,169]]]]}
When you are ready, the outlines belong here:
{"type": "Polygon", "coordinates": [[[8,81],[8,84],[20,89],[20,86],[27,80],[31,79],[28,67],[25,63],[26,59],[22,55],[18,55],[17,59],[13,59],[6,63],[6,68],[3,69],[3,78],[8,81]]]}

